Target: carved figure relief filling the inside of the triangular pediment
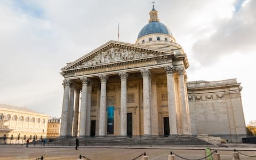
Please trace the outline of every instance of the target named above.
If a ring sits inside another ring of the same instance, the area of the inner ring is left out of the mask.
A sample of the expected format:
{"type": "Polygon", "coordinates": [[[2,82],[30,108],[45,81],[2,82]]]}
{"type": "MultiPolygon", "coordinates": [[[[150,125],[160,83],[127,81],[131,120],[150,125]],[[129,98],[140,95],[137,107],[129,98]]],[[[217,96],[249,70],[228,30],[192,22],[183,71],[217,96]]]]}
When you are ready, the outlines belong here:
{"type": "Polygon", "coordinates": [[[96,53],[92,59],[81,63],[81,65],[76,66],[76,68],[100,65],[102,63],[138,59],[153,55],[154,54],[149,52],[139,52],[135,51],[134,49],[121,49],[117,47],[112,47],[107,51],[101,51],[100,53],[96,53]]]}

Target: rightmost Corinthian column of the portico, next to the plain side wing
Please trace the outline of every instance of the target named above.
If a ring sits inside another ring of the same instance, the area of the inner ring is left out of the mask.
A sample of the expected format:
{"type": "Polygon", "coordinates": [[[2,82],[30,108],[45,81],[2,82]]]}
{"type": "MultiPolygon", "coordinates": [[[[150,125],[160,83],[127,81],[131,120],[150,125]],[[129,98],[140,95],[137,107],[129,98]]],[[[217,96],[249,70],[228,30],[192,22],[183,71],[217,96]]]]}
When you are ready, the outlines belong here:
{"type": "Polygon", "coordinates": [[[181,108],[181,123],[182,123],[182,134],[190,134],[190,119],[189,119],[189,108],[186,99],[186,84],[184,79],[185,70],[184,68],[178,69],[179,73],[179,94],[180,94],[180,108],[181,108]]]}

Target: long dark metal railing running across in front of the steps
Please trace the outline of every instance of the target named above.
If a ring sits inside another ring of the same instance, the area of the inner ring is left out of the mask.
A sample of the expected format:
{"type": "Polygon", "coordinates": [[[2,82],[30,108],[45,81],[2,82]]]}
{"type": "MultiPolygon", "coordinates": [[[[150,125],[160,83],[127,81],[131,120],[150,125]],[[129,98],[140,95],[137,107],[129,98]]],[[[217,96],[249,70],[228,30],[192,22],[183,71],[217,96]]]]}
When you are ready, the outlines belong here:
{"type": "MultiPolygon", "coordinates": [[[[218,147],[256,147],[256,143],[243,142],[243,138],[256,138],[246,134],[197,134],[197,135],[171,135],[169,137],[133,136],[120,138],[118,136],[106,137],[80,137],[79,146],[218,146],[218,147]]],[[[0,145],[25,145],[28,137],[0,137],[0,145]]],[[[29,146],[75,146],[75,137],[52,137],[29,139],[29,146]]]]}

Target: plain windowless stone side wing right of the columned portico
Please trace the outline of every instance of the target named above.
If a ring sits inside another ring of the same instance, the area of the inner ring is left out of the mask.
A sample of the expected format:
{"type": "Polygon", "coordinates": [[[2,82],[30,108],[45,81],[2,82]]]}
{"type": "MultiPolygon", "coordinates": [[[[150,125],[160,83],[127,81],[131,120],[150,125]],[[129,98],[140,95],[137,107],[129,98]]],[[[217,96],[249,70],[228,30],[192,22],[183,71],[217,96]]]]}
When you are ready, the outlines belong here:
{"type": "Polygon", "coordinates": [[[241,90],[236,79],[189,82],[191,133],[246,134],[241,90]]]}

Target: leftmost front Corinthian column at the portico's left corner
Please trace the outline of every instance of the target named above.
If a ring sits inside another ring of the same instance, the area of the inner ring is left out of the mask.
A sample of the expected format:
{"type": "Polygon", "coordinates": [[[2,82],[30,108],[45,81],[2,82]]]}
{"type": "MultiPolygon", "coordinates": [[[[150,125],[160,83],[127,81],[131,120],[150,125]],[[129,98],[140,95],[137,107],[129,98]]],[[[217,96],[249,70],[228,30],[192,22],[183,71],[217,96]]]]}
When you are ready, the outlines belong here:
{"type": "Polygon", "coordinates": [[[70,81],[65,79],[62,83],[64,87],[62,113],[61,113],[61,125],[60,125],[60,137],[68,136],[68,103],[69,103],[69,90],[70,81]]]}

